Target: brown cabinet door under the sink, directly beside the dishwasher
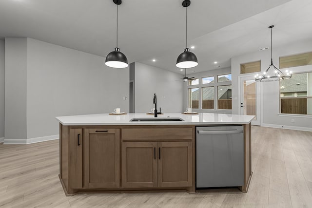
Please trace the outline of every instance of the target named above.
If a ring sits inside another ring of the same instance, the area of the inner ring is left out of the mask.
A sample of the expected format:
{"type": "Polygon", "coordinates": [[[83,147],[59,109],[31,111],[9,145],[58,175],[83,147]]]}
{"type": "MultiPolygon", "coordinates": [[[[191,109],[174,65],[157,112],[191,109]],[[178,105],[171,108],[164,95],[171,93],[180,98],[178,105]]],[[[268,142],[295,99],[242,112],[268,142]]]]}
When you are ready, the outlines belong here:
{"type": "Polygon", "coordinates": [[[191,187],[192,142],[158,142],[158,187],[191,187]]]}

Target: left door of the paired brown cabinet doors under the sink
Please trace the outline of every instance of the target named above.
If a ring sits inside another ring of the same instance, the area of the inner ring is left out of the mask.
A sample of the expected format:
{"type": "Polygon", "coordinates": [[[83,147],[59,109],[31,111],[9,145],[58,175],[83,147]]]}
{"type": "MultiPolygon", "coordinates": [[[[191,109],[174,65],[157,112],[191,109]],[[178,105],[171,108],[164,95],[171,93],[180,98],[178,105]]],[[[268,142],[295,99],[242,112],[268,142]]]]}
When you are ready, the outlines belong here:
{"type": "Polygon", "coordinates": [[[157,142],[122,143],[122,186],[157,187],[157,142]]]}

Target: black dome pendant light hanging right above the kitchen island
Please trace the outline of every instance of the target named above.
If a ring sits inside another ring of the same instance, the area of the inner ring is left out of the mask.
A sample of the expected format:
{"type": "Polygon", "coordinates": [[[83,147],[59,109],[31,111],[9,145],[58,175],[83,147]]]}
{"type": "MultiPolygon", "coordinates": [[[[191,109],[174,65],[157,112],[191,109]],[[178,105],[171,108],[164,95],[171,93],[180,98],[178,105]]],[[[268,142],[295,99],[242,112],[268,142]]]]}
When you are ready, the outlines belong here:
{"type": "Polygon", "coordinates": [[[190,0],[184,0],[182,6],[185,7],[185,16],[186,16],[186,48],[184,52],[176,59],[176,67],[179,68],[192,68],[198,65],[197,57],[195,54],[190,52],[190,49],[187,47],[187,7],[190,6],[190,0]]]}

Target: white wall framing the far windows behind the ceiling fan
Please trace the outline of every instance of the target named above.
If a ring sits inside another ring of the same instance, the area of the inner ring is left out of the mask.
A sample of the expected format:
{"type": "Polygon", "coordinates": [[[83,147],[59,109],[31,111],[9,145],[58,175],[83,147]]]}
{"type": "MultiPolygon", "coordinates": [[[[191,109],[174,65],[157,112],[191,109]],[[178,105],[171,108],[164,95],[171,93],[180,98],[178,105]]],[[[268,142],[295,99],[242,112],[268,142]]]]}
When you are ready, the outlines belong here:
{"type": "MultiPolygon", "coordinates": [[[[208,76],[218,76],[218,75],[226,75],[231,74],[231,67],[228,68],[222,68],[222,69],[215,69],[215,70],[208,70],[205,72],[199,72],[195,74],[187,74],[188,77],[195,77],[201,79],[202,77],[208,77],[208,76]]],[[[183,82],[183,109],[186,109],[188,107],[188,85],[187,82],[183,82]]],[[[216,86],[216,82],[215,82],[216,86]]],[[[195,86],[194,86],[195,87],[195,86]]],[[[217,88],[215,87],[215,95],[217,95],[217,88]]],[[[201,97],[201,96],[200,96],[201,97]]],[[[232,101],[233,102],[233,101],[232,101]]],[[[215,100],[215,106],[217,102],[215,100]]],[[[196,112],[200,113],[232,113],[231,110],[212,110],[212,109],[196,109],[196,112]]]]}

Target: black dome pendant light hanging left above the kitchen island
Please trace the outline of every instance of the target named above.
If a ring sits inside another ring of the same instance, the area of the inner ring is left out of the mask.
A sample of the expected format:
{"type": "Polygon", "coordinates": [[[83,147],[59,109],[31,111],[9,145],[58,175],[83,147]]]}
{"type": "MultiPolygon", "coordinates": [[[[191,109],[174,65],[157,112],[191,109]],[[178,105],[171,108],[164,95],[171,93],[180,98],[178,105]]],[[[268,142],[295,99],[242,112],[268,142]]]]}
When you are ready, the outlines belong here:
{"type": "Polygon", "coordinates": [[[128,66],[128,59],[118,48],[118,5],[121,4],[121,0],[113,0],[113,2],[117,5],[116,48],[106,56],[105,65],[113,68],[125,68],[128,66]]]}

